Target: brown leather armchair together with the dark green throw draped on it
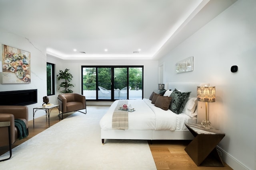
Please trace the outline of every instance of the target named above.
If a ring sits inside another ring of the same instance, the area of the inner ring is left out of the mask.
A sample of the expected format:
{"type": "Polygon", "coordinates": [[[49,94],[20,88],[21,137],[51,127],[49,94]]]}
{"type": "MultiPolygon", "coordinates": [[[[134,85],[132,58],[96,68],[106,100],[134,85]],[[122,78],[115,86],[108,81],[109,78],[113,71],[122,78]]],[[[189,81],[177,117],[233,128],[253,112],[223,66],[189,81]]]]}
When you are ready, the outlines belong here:
{"type": "Polygon", "coordinates": [[[0,147],[9,145],[10,157],[4,159],[8,160],[12,156],[11,145],[17,139],[28,136],[28,107],[0,106],[0,124],[0,147]]]}

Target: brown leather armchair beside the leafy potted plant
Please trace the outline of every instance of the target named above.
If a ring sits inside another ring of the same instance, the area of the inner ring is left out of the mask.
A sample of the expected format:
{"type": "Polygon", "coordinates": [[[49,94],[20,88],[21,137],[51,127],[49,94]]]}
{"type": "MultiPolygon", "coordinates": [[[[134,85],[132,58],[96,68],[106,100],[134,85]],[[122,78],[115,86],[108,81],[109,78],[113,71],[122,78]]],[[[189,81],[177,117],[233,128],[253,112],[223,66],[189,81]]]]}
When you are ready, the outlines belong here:
{"type": "Polygon", "coordinates": [[[62,111],[62,113],[68,113],[71,111],[80,111],[81,109],[86,109],[86,98],[85,96],[81,94],[76,94],[76,93],[59,94],[58,104],[60,105],[60,111],[62,111]]]}

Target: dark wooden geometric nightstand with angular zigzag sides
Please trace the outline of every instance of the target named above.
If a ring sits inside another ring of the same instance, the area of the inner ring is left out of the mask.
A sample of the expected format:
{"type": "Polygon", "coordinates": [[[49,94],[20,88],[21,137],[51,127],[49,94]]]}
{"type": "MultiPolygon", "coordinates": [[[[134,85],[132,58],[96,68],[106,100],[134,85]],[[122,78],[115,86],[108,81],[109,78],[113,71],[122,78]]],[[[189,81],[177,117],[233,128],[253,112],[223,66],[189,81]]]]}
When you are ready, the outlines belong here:
{"type": "Polygon", "coordinates": [[[225,133],[217,129],[205,129],[199,124],[185,123],[185,125],[195,137],[185,148],[185,151],[196,165],[224,166],[216,146],[223,139],[225,133]]]}

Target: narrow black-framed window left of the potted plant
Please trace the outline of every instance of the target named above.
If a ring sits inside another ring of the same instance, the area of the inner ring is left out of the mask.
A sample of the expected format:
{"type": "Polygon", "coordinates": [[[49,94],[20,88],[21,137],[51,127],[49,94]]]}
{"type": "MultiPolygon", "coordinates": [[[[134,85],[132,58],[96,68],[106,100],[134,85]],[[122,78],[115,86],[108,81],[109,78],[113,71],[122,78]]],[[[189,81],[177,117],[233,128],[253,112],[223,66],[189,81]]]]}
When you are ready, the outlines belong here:
{"type": "Polygon", "coordinates": [[[54,64],[46,63],[47,96],[55,94],[54,64]]]}

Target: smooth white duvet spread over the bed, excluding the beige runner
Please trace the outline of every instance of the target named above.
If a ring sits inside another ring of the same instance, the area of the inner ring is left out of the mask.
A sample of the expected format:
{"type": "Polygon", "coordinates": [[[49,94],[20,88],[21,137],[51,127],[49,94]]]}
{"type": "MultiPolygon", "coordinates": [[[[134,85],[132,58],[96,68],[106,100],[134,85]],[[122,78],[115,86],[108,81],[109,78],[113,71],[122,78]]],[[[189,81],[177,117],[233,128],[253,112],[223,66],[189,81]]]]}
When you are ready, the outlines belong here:
{"type": "MultiPolygon", "coordinates": [[[[100,120],[102,130],[112,130],[112,114],[119,100],[113,102],[107,113],[100,120]]],[[[188,115],[181,113],[177,115],[172,111],[163,110],[151,104],[151,100],[128,100],[128,106],[135,109],[134,112],[128,113],[129,130],[181,130],[186,129],[184,123],[190,118],[188,115]]]]}

